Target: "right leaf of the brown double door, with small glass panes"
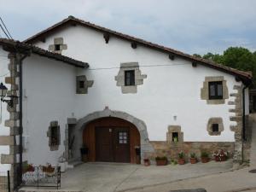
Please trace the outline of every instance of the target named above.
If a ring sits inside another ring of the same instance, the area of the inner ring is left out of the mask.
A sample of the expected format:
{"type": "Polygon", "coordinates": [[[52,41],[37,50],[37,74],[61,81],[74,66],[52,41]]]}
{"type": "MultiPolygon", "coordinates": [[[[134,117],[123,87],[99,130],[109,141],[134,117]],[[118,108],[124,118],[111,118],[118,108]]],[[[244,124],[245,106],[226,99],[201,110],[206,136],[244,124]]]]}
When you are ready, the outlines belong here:
{"type": "Polygon", "coordinates": [[[130,129],[129,127],[113,128],[114,161],[130,163],[130,129]]]}

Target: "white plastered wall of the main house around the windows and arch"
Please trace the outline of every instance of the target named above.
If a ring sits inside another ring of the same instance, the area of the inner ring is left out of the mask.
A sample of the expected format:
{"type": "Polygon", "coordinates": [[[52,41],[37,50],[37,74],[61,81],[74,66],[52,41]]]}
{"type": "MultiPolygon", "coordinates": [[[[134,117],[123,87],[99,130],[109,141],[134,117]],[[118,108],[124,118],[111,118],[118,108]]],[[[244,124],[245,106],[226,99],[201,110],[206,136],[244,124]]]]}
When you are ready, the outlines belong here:
{"type": "Polygon", "coordinates": [[[180,58],[171,61],[167,54],[154,49],[142,46],[131,49],[129,42],[118,38],[111,37],[105,44],[102,33],[81,26],[55,33],[45,43],[37,45],[48,49],[53,39],[59,37],[64,38],[67,44],[63,55],[89,62],[90,68],[79,69],[37,55],[23,61],[23,87],[26,92],[23,101],[24,135],[29,136],[26,156],[29,162],[55,164],[64,151],[67,118],[74,113],[74,117],[80,119],[89,113],[102,111],[106,106],[142,119],[151,141],[166,140],[168,125],[181,125],[184,141],[234,141],[234,132],[230,131],[230,125],[234,125],[230,122],[233,113],[229,113],[231,107],[227,104],[234,98],[230,97],[222,105],[208,105],[201,100],[201,87],[206,76],[224,76],[229,93],[235,92],[234,84],[241,84],[233,76],[201,65],[192,67],[189,61],[180,58]],[[138,86],[137,94],[122,94],[114,76],[118,74],[121,62],[131,61],[138,62],[148,78],[138,86]],[[75,77],[80,74],[94,80],[86,95],[75,94],[75,77]],[[211,117],[224,119],[224,131],[220,136],[207,133],[207,121],[211,117]],[[62,145],[57,152],[49,152],[49,138],[46,137],[52,120],[58,120],[61,125],[62,145]]]}

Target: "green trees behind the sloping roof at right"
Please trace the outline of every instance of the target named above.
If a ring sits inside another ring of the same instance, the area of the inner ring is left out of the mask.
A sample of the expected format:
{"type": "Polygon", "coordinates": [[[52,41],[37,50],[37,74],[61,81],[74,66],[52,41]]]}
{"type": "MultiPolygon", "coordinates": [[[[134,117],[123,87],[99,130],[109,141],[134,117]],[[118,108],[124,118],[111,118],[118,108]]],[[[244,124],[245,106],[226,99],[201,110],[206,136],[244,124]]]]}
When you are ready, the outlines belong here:
{"type": "Polygon", "coordinates": [[[222,55],[207,53],[206,55],[194,54],[197,57],[214,61],[227,67],[253,73],[253,86],[256,85],[256,51],[242,47],[230,47],[222,55]]]}

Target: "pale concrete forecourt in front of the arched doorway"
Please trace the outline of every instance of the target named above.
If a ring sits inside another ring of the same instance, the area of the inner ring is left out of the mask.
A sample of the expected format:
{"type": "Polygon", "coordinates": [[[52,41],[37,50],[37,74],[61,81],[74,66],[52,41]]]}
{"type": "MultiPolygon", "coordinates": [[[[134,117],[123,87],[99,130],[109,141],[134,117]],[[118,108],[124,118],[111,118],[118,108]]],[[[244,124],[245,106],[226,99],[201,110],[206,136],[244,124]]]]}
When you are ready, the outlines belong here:
{"type": "MultiPolygon", "coordinates": [[[[113,192],[160,183],[170,183],[189,177],[226,172],[231,160],[184,166],[140,166],[119,163],[86,163],[69,170],[61,177],[61,190],[113,192]]],[[[32,191],[32,190],[27,190],[32,191]]]]}

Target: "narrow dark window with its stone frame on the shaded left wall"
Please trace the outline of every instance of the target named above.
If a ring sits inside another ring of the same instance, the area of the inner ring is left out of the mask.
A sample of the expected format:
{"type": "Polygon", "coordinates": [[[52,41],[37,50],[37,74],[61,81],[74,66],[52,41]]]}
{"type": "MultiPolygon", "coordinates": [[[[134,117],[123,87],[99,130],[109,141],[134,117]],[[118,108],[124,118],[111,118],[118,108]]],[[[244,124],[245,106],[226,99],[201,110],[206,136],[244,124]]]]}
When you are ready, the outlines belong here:
{"type": "Polygon", "coordinates": [[[61,130],[57,121],[50,122],[49,129],[47,131],[47,137],[49,137],[50,150],[58,150],[59,145],[61,144],[61,130]]]}

